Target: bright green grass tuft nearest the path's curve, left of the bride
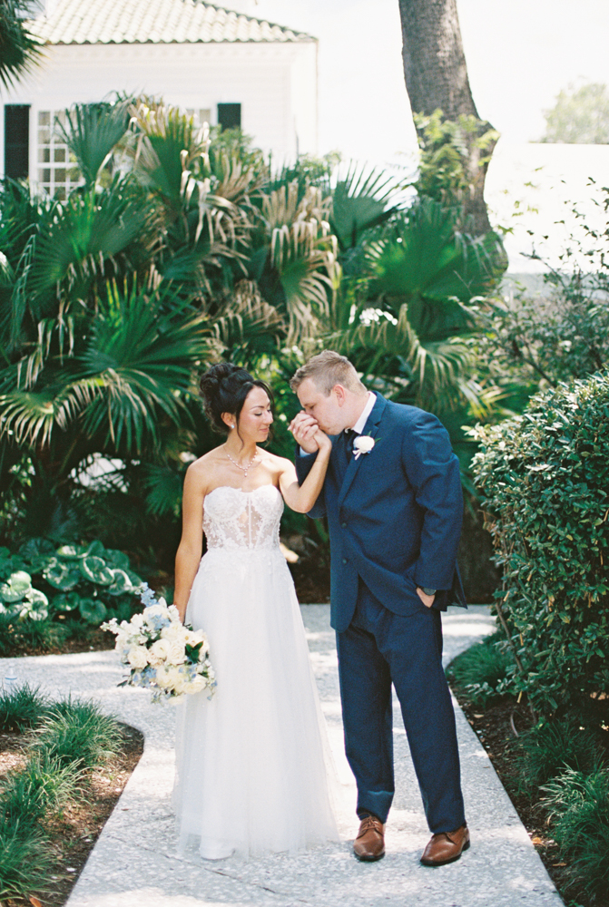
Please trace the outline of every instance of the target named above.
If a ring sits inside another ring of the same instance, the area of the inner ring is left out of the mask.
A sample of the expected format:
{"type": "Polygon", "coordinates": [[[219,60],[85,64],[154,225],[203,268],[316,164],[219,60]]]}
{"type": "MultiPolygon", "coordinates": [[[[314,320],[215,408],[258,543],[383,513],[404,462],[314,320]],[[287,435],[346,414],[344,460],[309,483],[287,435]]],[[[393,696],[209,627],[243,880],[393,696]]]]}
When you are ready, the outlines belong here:
{"type": "Polygon", "coordinates": [[[100,766],[120,749],[123,734],[93,701],[58,702],[36,731],[34,749],[61,766],[100,766]]]}

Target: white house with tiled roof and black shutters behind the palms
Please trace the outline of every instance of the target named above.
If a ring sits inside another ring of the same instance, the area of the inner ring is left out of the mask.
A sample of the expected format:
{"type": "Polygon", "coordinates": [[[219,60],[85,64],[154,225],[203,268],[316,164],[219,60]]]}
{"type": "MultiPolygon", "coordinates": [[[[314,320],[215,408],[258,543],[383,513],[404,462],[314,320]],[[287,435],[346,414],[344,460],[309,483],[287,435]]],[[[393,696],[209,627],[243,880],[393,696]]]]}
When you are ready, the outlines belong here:
{"type": "Polygon", "coordinates": [[[30,27],[44,41],[44,61],[0,99],[3,175],[29,176],[63,195],[70,175],[55,116],[117,91],[162,95],[201,122],[241,125],[278,163],[317,151],[311,35],[200,0],[45,0],[42,7],[30,27]]]}

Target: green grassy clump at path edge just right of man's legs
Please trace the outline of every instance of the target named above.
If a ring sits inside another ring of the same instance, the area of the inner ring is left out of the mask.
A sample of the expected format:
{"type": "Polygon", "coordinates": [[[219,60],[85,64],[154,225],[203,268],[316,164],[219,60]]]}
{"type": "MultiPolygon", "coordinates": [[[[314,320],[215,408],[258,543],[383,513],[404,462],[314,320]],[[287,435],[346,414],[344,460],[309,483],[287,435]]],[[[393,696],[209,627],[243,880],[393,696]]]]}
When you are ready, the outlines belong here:
{"type": "Polygon", "coordinates": [[[447,677],[463,689],[472,705],[484,707],[500,695],[500,684],[513,665],[505,640],[493,633],[451,661],[447,677]]]}

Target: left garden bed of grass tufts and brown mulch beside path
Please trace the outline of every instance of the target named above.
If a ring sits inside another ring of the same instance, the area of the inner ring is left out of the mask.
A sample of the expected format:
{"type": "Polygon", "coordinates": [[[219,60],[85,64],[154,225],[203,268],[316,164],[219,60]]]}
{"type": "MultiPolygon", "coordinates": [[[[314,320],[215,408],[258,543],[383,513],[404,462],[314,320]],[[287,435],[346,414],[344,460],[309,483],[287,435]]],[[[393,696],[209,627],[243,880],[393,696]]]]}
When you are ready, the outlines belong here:
{"type": "Polygon", "coordinates": [[[65,902],[141,753],[93,702],[0,697],[1,902],[65,902]]]}

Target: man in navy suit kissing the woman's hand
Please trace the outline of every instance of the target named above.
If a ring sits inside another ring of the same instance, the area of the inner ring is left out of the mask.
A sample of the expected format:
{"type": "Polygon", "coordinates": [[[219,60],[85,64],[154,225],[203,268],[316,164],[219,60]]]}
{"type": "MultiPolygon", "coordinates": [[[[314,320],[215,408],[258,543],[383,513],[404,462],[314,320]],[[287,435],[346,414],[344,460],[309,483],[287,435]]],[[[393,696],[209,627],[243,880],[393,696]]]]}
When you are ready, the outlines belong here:
{"type": "Polygon", "coordinates": [[[354,853],[364,861],[385,854],[393,684],[432,832],[421,863],[451,863],[469,846],[440,621],[450,600],[465,605],[457,457],[434,415],[368,391],[338,353],[313,356],[290,386],[303,409],[290,424],[300,482],[317,456],[317,427],[334,436],[310,515],[329,523],[331,624],[361,821],[354,853]]]}

